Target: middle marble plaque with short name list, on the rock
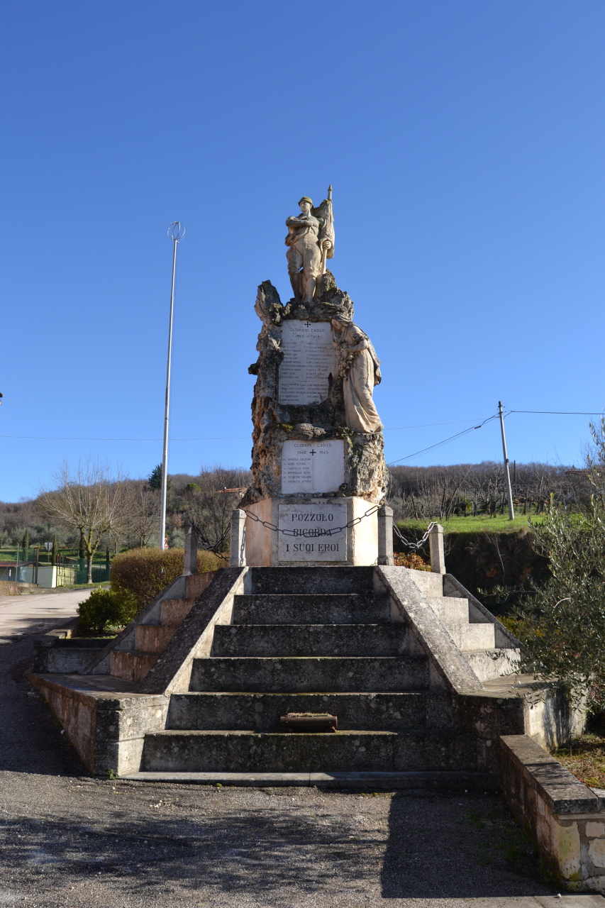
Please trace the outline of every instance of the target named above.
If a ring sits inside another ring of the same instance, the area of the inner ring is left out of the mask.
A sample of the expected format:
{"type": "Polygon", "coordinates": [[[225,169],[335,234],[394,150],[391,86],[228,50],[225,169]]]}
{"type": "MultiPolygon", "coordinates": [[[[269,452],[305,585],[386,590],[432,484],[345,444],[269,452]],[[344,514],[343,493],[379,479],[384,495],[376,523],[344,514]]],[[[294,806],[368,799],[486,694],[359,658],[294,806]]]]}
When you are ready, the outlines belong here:
{"type": "Polygon", "coordinates": [[[344,482],[344,442],[284,441],[282,493],[337,492],[344,482]]]}

